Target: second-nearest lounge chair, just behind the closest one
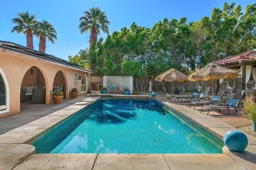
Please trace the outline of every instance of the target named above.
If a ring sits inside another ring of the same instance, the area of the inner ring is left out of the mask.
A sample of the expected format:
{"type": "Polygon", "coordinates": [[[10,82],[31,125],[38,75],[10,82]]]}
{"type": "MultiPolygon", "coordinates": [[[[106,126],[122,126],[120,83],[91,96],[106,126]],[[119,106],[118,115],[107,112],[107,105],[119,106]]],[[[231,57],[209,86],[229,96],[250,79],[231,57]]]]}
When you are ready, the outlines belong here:
{"type": "Polygon", "coordinates": [[[208,104],[222,103],[222,102],[224,102],[226,104],[225,100],[222,99],[225,91],[226,91],[226,89],[219,89],[219,91],[216,95],[213,95],[212,97],[207,98],[206,101],[192,101],[192,102],[190,102],[189,108],[191,105],[194,105],[194,110],[195,110],[196,105],[198,105],[198,104],[208,105],[208,104]]]}

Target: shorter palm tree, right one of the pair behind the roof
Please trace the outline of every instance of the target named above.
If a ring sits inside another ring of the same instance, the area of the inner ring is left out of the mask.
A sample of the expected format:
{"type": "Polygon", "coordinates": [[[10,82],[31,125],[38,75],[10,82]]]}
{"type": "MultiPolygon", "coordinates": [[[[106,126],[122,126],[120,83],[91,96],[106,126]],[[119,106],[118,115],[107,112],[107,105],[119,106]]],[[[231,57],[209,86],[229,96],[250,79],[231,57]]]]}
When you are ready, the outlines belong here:
{"type": "Polygon", "coordinates": [[[57,40],[56,30],[54,29],[53,25],[46,20],[37,22],[35,35],[37,38],[39,38],[39,51],[43,53],[45,53],[46,49],[46,38],[52,42],[52,44],[55,43],[54,39],[57,40]]]}

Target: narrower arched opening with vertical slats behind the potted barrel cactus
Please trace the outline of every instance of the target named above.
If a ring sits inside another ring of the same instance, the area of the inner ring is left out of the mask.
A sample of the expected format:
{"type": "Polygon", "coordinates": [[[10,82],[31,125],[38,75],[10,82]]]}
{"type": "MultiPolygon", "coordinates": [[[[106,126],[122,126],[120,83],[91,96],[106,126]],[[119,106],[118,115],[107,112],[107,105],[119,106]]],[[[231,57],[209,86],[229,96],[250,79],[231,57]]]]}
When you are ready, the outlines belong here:
{"type": "Polygon", "coordinates": [[[54,77],[53,81],[53,87],[52,90],[61,90],[63,91],[64,99],[66,98],[66,82],[65,82],[65,77],[62,73],[62,71],[58,71],[54,77]]]}

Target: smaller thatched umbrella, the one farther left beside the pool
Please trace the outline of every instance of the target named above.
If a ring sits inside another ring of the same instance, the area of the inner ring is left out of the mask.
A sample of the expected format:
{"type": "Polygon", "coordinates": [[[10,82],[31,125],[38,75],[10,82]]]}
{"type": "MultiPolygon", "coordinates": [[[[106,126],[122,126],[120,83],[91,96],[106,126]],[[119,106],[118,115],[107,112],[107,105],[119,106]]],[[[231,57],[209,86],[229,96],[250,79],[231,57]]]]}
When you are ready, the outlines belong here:
{"type": "Polygon", "coordinates": [[[170,69],[168,71],[166,71],[165,73],[162,73],[161,75],[158,75],[156,77],[156,81],[170,81],[172,82],[172,94],[173,94],[173,82],[175,80],[182,82],[182,81],[186,81],[188,79],[188,76],[180,73],[179,71],[177,71],[176,69],[170,69]]]}

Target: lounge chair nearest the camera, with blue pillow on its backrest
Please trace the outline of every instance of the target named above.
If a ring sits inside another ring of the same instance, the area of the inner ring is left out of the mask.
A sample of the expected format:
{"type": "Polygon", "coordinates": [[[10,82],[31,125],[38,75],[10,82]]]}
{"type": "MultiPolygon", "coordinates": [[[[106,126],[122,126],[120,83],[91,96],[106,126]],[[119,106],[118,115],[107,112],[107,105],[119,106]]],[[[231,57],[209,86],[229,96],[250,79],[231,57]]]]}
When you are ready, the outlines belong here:
{"type": "MultiPolygon", "coordinates": [[[[238,104],[240,103],[240,101],[242,100],[242,98],[245,95],[246,90],[237,90],[236,93],[234,94],[233,98],[230,98],[227,102],[226,105],[203,105],[202,109],[201,109],[201,113],[203,108],[208,109],[207,115],[209,114],[209,110],[212,108],[219,108],[219,112],[221,108],[227,108],[228,109],[228,113],[230,111],[230,108],[235,108],[238,106],[238,104]]],[[[236,111],[237,112],[237,111],[236,111]]]]}

